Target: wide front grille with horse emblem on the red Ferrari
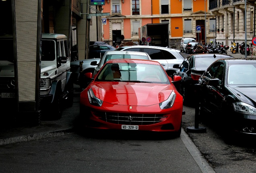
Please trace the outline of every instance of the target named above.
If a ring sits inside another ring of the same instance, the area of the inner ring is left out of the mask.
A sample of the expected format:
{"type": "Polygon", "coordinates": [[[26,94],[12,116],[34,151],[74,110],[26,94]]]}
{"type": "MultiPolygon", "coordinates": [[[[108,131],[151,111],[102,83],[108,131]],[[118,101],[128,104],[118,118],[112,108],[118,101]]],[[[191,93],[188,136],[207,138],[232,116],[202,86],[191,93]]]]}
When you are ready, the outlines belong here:
{"type": "Polygon", "coordinates": [[[129,113],[111,113],[97,112],[95,116],[102,121],[121,124],[121,125],[152,125],[160,123],[165,118],[163,114],[129,114],[129,113]]]}

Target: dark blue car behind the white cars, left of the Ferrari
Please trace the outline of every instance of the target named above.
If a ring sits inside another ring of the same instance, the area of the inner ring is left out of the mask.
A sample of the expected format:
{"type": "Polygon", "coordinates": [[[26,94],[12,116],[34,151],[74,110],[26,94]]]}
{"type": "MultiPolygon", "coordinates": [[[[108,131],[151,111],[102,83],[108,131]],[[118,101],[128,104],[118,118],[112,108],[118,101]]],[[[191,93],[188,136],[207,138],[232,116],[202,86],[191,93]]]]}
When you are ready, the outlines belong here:
{"type": "Polygon", "coordinates": [[[91,45],[89,46],[89,58],[101,58],[105,52],[115,49],[110,45],[91,45]]]}

